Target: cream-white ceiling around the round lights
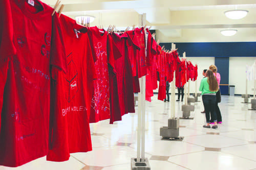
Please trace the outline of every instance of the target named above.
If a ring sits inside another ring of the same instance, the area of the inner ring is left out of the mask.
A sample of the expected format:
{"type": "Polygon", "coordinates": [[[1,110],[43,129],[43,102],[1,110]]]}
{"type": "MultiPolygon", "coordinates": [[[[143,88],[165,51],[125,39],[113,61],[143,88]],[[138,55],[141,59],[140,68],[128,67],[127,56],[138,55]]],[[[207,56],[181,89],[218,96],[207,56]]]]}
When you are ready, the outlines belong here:
{"type": "MultiPolygon", "coordinates": [[[[56,0],[42,0],[52,7],[56,0]]],[[[91,26],[115,25],[125,28],[139,24],[139,14],[146,13],[147,25],[157,30],[161,42],[256,41],[255,0],[62,0],[63,14],[93,15],[91,26]],[[248,10],[245,18],[232,20],[224,12],[248,10]],[[235,28],[238,33],[224,37],[222,29],[235,28]]]]}

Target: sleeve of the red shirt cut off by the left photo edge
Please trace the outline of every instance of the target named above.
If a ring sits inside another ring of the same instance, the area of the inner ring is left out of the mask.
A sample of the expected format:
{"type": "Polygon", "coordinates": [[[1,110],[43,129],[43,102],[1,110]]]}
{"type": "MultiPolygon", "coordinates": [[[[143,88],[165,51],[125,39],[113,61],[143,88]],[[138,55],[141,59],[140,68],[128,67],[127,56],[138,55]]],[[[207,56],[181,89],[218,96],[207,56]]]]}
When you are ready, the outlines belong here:
{"type": "Polygon", "coordinates": [[[0,60],[16,54],[13,43],[13,23],[9,1],[0,1],[0,60]]]}

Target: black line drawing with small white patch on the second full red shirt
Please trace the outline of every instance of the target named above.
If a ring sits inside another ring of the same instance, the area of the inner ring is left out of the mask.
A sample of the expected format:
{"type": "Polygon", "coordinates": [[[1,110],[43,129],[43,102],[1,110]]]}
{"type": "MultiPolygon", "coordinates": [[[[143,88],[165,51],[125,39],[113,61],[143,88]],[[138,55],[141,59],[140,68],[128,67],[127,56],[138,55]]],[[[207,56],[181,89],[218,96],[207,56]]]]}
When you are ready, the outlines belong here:
{"type": "Polygon", "coordinates": [[[77,68],[72,58],[72,53],[67,57],[68,72],[66,74],[66,99],[71,102],[78,91],[78,74],[77,68]]]}

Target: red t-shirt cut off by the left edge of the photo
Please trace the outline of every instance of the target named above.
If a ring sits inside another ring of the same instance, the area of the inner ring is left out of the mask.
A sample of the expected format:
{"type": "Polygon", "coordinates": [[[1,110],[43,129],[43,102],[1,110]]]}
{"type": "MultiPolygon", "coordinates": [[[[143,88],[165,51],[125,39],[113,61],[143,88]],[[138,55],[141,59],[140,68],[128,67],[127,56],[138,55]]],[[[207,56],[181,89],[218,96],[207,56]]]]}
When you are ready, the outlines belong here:
{"type": "Polygon", "coordinates": [[[9,1],[0,2],[0,132],[4,87],[7,79],[9,56],[16,53],[13,44],[13,25],[9,1]]]}

